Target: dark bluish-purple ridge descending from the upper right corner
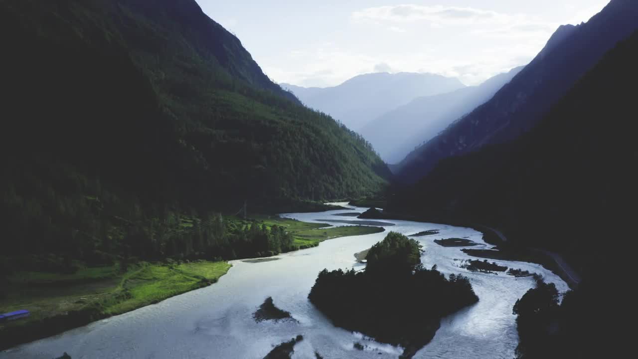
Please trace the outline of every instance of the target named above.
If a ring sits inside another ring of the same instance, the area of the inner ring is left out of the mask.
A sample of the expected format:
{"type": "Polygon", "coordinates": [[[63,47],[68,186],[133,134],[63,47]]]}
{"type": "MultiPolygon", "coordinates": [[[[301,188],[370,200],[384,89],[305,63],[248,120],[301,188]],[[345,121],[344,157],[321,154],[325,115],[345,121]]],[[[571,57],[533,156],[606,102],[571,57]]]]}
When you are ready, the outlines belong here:
{"type": "Polygon", "coordinates": [[[449,156],[501,143],[529,131],[602,55],[637,27],[638,1],[613,0],[586,24],[562,26],[523,71],[494,97],[416,149],[398,176],[414,182],[449,156]]]}

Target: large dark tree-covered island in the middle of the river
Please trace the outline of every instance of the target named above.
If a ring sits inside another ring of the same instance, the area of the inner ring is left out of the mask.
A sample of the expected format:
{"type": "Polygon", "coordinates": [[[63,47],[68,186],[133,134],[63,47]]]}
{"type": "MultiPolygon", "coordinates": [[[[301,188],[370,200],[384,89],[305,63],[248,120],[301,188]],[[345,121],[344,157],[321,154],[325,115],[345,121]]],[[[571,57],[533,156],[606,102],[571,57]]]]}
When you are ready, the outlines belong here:
{"type": "Polygon", "coordinates": [[[441,317],[479,300],[470,281],[420,263],[420,245],[389,233],[367,254],[366,270],[323,270],[309,300],[336,326],[403,346],[411,357],[433,337],[441,317]]]}

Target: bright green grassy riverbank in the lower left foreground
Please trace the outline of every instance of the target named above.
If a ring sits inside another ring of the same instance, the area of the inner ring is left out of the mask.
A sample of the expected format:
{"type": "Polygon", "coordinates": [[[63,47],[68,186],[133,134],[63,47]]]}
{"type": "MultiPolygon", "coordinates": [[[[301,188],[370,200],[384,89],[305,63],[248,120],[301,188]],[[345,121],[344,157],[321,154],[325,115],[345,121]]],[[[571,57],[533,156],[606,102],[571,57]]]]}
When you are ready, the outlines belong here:
{"type": "Polygon", "coordinates": [[[0,325],[0,349],[56,335],[217,282],[227,262],[138,263],[82,268],[73,274],[21,271],[9,277],[3,310],[31,315],[0,325]]]}

